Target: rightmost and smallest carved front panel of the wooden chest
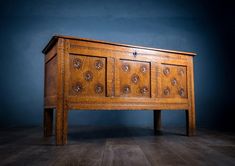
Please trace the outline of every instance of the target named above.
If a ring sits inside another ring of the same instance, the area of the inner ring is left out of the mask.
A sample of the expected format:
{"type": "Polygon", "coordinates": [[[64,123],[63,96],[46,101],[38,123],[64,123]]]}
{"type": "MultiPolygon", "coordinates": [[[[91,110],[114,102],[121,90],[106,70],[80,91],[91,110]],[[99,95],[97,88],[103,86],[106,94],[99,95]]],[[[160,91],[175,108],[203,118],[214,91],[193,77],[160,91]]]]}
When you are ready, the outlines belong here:
{"type": "Polygon", "coordinates": [[[185,66],[162,64],[161,97],[187,98],[187,68],[185,66]]]}

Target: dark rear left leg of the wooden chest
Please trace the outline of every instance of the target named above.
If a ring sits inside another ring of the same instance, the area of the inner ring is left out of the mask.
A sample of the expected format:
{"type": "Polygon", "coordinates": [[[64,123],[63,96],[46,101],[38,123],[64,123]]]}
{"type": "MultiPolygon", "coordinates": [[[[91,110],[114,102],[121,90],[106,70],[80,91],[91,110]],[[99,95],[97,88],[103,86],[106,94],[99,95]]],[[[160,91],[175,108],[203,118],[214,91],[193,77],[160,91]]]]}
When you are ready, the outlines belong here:
{"type": "Polygon", "coordinates": [[[52,108],[44,108],[44,137],[52,136],[53,133],[53,109],[52,108]]]}

